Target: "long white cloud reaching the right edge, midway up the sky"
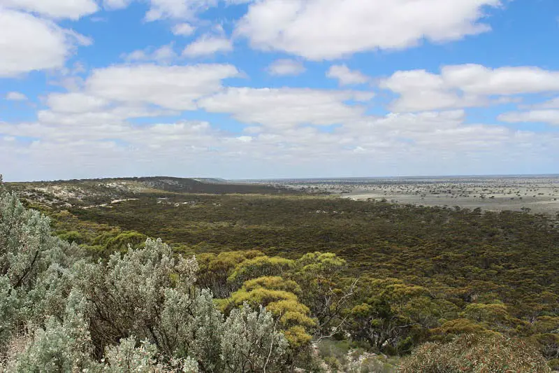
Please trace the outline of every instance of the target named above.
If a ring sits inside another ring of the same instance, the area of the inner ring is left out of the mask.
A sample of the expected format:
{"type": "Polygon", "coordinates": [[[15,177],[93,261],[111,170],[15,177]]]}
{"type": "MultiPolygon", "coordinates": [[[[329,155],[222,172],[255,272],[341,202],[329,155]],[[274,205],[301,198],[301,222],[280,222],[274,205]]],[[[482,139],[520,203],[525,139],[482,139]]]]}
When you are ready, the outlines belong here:
{"type": "Polygon", "coordinates": [[[504,104],[514,101],[507,96],[515,94],[559,91],[559,72],[533,66],[490,69],[464,64],[443,66],[440,74],[396,71],[379,86],[399,95],[391,104],[393,111],[464,108],[504,104]]]}

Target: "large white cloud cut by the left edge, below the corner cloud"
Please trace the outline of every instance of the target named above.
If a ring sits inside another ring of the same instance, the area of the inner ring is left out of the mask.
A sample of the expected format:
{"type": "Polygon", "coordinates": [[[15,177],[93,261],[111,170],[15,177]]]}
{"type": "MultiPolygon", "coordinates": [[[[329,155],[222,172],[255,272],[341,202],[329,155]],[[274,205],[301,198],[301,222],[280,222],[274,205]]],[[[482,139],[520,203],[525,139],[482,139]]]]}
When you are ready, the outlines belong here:
{"type": "Polygon", "coordinates": [[[48,20],[0,7],[0,77],[64,66],[75,45],[90,43],[48,20]]]}

